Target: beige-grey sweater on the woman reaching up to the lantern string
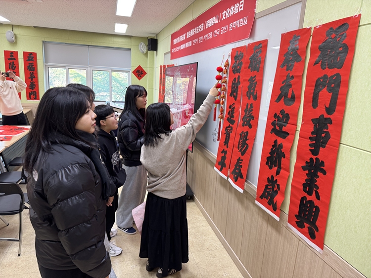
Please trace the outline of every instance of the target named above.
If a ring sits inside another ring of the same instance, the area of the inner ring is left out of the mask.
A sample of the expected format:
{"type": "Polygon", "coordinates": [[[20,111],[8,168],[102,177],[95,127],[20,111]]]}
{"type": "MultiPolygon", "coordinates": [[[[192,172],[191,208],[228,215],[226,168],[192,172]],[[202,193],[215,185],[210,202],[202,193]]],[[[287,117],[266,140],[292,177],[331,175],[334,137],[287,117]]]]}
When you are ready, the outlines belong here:
{"type": "Polygon", "coordinates": [[[215,97],[207,95],[187,124],[168,135],[162,134],[157,146],[141,147],[140,162],[148,171],[148,192],[167,199],[185,195],[186,150],[205,123],[214,101],[215,97]]]}

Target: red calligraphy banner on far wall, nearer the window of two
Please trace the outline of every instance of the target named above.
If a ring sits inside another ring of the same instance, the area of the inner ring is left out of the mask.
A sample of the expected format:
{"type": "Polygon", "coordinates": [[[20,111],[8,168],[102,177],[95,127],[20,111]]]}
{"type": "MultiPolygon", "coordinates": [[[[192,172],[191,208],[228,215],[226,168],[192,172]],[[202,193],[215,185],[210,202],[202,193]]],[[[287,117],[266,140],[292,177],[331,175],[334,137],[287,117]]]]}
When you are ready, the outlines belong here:
{"type": "Polygon", "coordinates": [[[40,100],[38,58],[36,52],[23,51],[24,76],[28,84],[26,88],[27,100],[40,100]]]}

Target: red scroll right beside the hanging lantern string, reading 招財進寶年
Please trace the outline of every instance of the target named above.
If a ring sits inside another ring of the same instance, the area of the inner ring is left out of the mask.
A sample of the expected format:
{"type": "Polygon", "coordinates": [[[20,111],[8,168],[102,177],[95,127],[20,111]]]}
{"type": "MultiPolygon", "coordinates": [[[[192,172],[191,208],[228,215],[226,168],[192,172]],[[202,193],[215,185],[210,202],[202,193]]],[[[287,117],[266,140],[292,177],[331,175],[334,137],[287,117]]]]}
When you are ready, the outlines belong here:
{"type": "Polygon", "coordinates": [[[230,168],[233,142],[236,134],[239,113],[241,110],[242,89],[247,88],[247,50],[246,46],[232,49],[231,64],[228,73],[228,85],[226,95],[226,114],[221,129],[217,160],[214,166],[222,177],[227,179],[230,168]]]}

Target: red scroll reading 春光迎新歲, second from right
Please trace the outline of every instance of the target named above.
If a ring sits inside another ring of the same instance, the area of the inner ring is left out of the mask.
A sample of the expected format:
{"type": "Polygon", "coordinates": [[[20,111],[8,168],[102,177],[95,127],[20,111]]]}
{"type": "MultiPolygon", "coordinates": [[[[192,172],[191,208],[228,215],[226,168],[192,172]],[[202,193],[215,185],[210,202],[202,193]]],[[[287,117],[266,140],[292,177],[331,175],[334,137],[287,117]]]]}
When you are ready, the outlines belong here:
{"type": "Polygon", "coordinates": [[[281,35],[255,200],[277,221],[290,174],[290,149],[296,131],[310,36],[311,28],[281,35]]]}

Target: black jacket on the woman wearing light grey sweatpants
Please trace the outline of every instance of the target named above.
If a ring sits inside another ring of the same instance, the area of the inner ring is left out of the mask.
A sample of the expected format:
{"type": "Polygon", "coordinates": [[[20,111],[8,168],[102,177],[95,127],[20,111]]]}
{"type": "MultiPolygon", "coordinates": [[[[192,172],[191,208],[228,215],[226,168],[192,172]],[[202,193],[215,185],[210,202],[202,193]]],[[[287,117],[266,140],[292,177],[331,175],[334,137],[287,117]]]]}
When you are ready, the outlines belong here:
{"type": "Polygon", "coordinates": [[[144,143],[144,119],[139,114],[138,117],[126,112],[119,121],[117,140],[126,166],[141,165],[139,159],[140,148],[144,143]]]}

